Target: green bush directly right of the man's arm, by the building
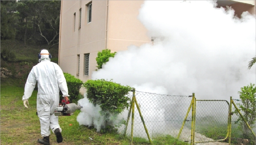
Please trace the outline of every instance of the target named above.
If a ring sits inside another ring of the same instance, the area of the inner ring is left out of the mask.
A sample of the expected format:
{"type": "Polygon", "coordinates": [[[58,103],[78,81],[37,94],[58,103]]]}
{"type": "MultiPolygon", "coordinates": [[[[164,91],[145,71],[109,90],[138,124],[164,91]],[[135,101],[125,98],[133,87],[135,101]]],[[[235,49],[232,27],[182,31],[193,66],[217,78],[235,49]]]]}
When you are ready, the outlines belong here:
{"type": "MultiPolygon", "coordinates": [[[[74,75],[71,75],[69,73],[63,73],[68,85],[68,95],[70,102],[77,102],[79,99],[82,98],[79,90],[82,87],[83,81],[81,81],[78,78],[75,78],[74,75]]],[[[63,95],[60,91],[60,95],[63,95]]],[[[62,96],[60,96],[60,100],[63,99],[62,96]]]]}

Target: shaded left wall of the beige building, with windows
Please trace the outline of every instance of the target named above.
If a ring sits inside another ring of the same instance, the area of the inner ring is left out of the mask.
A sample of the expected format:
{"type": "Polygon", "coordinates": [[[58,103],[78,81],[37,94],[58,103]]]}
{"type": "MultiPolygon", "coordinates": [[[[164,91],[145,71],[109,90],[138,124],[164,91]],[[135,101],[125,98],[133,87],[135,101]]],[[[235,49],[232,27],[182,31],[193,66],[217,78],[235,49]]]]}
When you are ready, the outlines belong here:
{"type": "Polygon", "coordinates": [[[90,53],[89,74],[91,74],[92,70],[96,69],[96,61],[93,58],[98,51],[104,49],[105,45],[106,1],[93,1],[92,22],[87,23],[86,4],[90,2],[91,0],[62,1],[59,65],[63,72],[77,76],[81,80],[89,78],[83,75],[84,54],[90,53]],[[80,9],[81,26],[79,26],[80,9]],[[77,55],[80,55],[79,75],[77,55]]]}

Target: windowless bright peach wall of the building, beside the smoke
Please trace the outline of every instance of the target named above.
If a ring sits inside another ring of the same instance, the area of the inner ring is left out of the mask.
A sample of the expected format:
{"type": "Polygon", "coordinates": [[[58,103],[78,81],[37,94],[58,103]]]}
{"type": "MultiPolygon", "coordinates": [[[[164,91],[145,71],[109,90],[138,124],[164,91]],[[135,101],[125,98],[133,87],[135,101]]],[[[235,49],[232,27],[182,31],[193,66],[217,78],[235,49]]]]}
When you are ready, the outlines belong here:
{"type": "Polygon", "coordinates": [[[110,0],[107,48],[113,51],[127,49],[131,44],[149,43],[147,29],[137,19],[143,0],[110,0]]]}

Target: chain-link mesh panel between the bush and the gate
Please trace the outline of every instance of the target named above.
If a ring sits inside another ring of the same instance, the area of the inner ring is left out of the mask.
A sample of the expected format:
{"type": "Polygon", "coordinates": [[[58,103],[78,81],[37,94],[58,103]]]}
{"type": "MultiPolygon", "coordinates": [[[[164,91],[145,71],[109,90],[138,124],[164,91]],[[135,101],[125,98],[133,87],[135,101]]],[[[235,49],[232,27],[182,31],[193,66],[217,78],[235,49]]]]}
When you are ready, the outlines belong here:
{"type": "MultiPolygon", "coordinates": [[[[135,96],[150,138],[163,135],[171,135],[176,138],[182,127],[182,122],[186,116],[192,97],[188,95],[162,95],[140,91],[135,91],[135,96]]],[[[132,98],[132,92],[130,93],[130,97],[132,98]]],[[[125,119],[127,119],[128,113],[129,110],[123,113],[125,119]]],[[[191,116],[188,117],[189,120],[191,120],[191,116]]],[[[120,132],[124,130],[125,125],[119,128],[120,132]]],[[[131,136],[131,117],[128,122],[126,135],[131,136]]],[[[134,107],[133,136],[148,138],[136,105],[134,107]]],[[[191,133],[189,131],[186,132],[186,129],[182,131],[181,137],[185,140],[190,139],[190,136],[191,133]]]]}

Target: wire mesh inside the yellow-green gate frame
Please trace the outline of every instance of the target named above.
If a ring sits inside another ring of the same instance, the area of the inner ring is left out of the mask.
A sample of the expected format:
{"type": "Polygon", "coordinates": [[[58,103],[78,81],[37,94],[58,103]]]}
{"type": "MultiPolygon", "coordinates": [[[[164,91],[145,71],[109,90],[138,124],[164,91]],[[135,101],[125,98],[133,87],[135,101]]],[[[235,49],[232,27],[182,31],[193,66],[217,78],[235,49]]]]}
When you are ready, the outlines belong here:
{"type": "Polygon", "coordinates": [[[229,102],[196,100],[195,142],[224,139],[228,133],[229,102]]]}

